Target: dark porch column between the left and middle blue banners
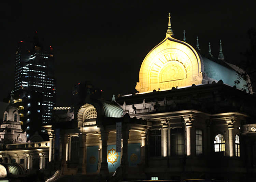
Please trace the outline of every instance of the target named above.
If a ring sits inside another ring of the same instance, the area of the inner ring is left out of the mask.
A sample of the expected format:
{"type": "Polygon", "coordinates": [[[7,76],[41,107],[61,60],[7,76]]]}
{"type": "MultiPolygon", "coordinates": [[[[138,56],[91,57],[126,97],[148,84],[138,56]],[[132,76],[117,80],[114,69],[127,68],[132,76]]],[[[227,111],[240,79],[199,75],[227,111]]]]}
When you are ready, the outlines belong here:
{"type": "Polygon", "coordinates": [[[103,176],[109,175],[108,163],[107,163],[107,147],[108,147],[109,132],[101,131],[102,140],[102,159],[100,164],[100,174],[103,176]]]}

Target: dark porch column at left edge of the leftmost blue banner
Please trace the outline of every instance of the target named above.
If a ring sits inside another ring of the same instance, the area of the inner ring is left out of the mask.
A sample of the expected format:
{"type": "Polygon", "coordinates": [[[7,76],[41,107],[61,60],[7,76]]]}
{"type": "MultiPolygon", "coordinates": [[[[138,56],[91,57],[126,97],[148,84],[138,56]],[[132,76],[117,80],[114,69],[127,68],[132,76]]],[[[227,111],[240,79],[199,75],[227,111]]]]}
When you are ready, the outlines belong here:
{"type": "Polygon", "coordinates": [[[86,151],[86,133],[79,134],[79,166],[78,172],[81,174],[86,174],[86,161],[87,161],[87,151],[86,151]]]}

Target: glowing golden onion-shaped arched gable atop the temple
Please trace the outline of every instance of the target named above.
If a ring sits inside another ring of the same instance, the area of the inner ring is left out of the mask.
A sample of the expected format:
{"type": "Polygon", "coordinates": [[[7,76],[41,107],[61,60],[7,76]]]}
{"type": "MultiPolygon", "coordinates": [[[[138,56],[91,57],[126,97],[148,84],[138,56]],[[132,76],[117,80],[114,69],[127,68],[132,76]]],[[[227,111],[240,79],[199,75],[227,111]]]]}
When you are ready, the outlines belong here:
{"type": "Polygon", "coordinates": [[[136,90],[149,92],[202,84],[201,64],[191,45],[166,37],[144,58],[136,90]]]}

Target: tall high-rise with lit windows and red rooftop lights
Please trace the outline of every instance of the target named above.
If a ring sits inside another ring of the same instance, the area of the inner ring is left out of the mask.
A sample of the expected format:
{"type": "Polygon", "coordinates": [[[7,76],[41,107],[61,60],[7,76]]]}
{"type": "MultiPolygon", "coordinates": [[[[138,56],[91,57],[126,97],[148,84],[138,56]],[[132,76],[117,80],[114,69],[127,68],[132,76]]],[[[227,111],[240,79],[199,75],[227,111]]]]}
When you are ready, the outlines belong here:
{"type": "Polygon", "coordinates": [[[39,126],[51,123],[55,105],[55,83],[52,46],[44,49],[39,42],[37,32],[32,41],[20,40],[16,51],[13,93],[15,100],[18,101],[17,107],[20,110],[27,108],[26,113],[20,112],[20,116],[24,117],[20,121],[26,126],[23,128],[29,135],[33,134],[29,130],[38,131],[39,126]],[[35,115],[36,117],[33,117],[35,115]],[[32,121],[31,118],[36,121],[32,121]],[[35,125],[37,129],[31,128],[35,125]]]}

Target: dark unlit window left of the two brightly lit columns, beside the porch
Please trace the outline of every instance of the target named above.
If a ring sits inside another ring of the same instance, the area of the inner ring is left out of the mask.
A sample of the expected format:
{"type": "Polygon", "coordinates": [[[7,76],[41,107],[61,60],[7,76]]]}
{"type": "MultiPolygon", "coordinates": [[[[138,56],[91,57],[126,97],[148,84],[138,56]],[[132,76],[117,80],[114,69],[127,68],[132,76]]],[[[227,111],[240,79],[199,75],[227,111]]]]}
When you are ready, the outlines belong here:
{"type": "Polygon", "coordinates": [[[150,131],[150,156],[161,156],[161,130],[150,131]]]}

